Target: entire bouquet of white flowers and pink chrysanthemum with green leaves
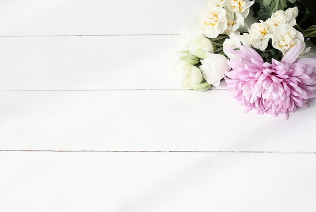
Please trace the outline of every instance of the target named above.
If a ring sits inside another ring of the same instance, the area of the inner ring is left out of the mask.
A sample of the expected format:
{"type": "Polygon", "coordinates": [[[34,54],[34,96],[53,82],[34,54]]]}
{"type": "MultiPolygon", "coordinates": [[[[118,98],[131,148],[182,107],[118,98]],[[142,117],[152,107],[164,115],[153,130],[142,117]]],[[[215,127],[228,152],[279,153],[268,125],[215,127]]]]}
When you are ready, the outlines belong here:
{"type": "Polygon", "coordinates": [[[311,0],[208,0],[182,34],[173,69],[185,89],[225,80],[245,112],[288,118],[316,97],[316,59],[306,46],[316,44],[314,14],[311,0]]]}

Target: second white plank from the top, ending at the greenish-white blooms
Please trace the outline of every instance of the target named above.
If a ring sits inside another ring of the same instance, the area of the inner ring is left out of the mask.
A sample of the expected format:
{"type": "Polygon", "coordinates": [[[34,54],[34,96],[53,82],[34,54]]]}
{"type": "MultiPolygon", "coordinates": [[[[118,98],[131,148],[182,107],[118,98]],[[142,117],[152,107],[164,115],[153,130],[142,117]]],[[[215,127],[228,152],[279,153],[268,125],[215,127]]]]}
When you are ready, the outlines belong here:
{"type": "Polygon", "coordinates": [[[0,89],[181,89],[172,71],[179,38],[2,37],[0,89]]]}

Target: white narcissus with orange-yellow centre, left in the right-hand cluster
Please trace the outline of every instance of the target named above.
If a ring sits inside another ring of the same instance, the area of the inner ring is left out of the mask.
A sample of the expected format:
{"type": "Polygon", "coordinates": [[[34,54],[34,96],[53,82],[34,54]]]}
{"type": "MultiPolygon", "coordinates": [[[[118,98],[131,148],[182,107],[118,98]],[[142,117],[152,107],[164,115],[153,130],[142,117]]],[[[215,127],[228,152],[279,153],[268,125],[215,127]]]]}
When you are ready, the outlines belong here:
{"type": "Polygon", "coordinates": [[[249,35],[251,45],[263,51],[268,47],[269,39],[272,38],[272,34],[270,34],[267,24],[261,20],[259,21],[260,22],[251,24],[249,35]]]}

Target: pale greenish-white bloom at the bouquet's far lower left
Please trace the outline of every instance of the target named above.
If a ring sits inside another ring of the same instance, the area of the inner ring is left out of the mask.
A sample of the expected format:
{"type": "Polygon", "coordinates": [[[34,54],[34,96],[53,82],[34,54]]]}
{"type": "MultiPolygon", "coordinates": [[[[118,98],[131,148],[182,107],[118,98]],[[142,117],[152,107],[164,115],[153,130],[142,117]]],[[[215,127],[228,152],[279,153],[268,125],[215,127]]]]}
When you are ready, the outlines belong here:
{"type": "Polygon", "coordinates": [[[180,76],[180,84],[184,89],[194,89],[196,85],[202,81],[201,70],[196,66],[189,64],[188,61],[183,60],[184,56],[181,52],[176,52],[173,57],[173,71],[180,76]]]}

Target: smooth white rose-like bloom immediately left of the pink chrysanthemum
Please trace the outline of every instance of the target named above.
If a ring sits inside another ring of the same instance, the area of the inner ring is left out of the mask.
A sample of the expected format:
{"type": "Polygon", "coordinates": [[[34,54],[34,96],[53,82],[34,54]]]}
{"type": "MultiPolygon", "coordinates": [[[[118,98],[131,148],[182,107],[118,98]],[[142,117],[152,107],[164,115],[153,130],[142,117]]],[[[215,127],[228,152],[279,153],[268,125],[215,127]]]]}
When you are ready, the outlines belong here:
{"type": "Polygon", "coordinates": [[[206,82],[213,86],[219,86],[224,72],[229,71],[227,58],[220,54],[206,52],[207,58],[201,60],[200,70],[206,82]]]}

